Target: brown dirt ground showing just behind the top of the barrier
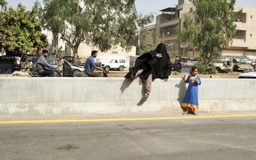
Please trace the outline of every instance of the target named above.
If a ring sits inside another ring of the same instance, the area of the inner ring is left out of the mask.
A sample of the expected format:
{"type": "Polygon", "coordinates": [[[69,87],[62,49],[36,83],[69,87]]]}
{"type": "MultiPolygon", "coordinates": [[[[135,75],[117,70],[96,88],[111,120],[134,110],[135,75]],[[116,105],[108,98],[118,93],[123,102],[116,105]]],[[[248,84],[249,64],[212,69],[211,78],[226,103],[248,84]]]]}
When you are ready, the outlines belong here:
{"type": "MultiPolygon", "coordinates": [[[[184,73],[178,72],[177,75],[173,75],[174,72],[170,75],[171,78],[181,78],[184,76],[184,73]]],[[[109,73],[108,77],[124,77],[127,73],[109,73]]],[[[242,74],[242,72],[229,72],[229,73],[217,73],[215,75],[221,76],[221,78],[238,78],[238,75],[242,74]]],[[[186,77],[188,77],[188,74],[185,73],[186,77]]],[[[210,74],[204,75],[204,74],[199,74],[201,78],[210,78],[210,74]]],[[[0,74],[0,76],[8,76],[12,77],[12,74],[0,74]]]]}

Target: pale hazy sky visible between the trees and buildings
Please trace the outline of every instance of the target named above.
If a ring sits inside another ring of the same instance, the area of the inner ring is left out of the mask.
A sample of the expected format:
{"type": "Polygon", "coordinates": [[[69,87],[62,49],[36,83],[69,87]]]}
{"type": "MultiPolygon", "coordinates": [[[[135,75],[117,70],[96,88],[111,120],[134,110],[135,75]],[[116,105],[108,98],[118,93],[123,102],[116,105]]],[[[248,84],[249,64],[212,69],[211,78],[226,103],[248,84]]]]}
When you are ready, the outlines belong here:
{"type": "MultiPolygon", "coordinates": [[[[16,9],[18,3],[21,3],[26,6],[27,10],[32,9],[34,1],[36,0],[6,0],[8,8],[13,7],[16,9]]],[[[179,0],[135,0],[135,6],[138,13],[145,15],[152,12],[156,17],[156,15],[161,14],[160,10],[174,7],[178,4],[178,1],[179,0]]],[[[39,0],[39,2],[43,4],[43,0],[39,0]]],[[[236,5],[256,8],[256,0],[236,0],[236,5]]],[[[152,24],[155,24],[155,21],[156,20],[154,20],[152,24]]]]}

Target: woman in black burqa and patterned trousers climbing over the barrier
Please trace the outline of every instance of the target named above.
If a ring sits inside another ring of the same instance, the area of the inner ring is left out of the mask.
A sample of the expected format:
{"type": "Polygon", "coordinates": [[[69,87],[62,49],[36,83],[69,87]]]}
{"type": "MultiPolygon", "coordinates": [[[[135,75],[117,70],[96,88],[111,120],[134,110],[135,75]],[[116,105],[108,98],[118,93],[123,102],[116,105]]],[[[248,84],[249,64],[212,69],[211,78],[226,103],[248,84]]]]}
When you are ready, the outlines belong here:
{"type": "Polygon", "coordinates": [[[145,86],[143,98],[147,99],[151,93],[152,80],[160,78],[167,82],[171,72],[171,61],[166,52],[166,46],[164,43],[160,43],[155,50],[151,50],[138,57],[134,68],[125,77],[131,80],[140,77],[145,86]]]}

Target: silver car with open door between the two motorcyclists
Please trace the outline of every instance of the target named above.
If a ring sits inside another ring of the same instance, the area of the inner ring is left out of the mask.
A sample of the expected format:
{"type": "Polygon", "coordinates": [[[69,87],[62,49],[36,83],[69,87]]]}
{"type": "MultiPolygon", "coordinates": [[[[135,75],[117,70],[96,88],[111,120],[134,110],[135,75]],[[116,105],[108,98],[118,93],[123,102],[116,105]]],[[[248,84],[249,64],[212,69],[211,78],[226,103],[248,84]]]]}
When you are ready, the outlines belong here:
{"type": "MultiPolygon", "coordinates": [[[[49,59],[46,59],[46,62],[57,68],[58,60],[59,60],[58,58],[49,58],[49,59]]],[[[74,74],[76,74],[77,72],[84,72],[84,70],[85,70],[83,67],[76,66],[75,65],[76,63],[74,63],[74,65],[73,65],[73,64],[69,63],[68,61],[66,61],[65,59],[63,59],[63,61],[64,61],[63,75],[65,74],[65,75],[73,75],[74,76],[74,74]]],[[[78,61],[79,61],[79,59],[77,60],[77,62],[78,61]]]]}

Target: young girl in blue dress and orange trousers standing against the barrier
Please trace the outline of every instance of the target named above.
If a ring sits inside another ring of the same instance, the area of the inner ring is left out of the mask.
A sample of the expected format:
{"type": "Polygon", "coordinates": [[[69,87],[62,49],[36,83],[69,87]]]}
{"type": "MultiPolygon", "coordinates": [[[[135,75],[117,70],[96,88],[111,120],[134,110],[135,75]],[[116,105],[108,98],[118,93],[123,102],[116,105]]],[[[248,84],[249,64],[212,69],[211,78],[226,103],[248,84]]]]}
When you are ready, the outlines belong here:
{"type": "Polygon", "coordinates": [[[186,92],[182,107],[186,108],[186,111],[182,114],[188,114],[189,108],[193,108],[193,114],[197,115],[196,109],[199,109],[198,106],[198,85],[201,85],[200,77],[198,76],[198,68],[192,67],[191,74],[188,76],[187,80],[185,77],[182,77],[185,83],[189,83],[188,90],[186,92]]]}

